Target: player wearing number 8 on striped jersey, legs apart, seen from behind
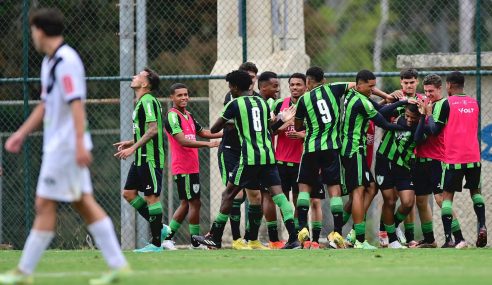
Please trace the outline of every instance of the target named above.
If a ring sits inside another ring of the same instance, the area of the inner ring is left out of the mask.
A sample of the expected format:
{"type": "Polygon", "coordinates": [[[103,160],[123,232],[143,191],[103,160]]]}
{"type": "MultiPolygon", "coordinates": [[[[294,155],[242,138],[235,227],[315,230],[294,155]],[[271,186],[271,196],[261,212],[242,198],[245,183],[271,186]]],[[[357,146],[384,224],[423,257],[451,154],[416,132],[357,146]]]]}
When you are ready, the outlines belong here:
{"type": "MultiPolygon", "coordinates": [[[[284,123],[283,120],[286,122],[293,117],[293,108],[282,112],[279,115],[279,121],[270,127],[270,110],[267,104],[261,98],[251,96],[248,92],[252,83],[249,75],[244,71],[233,71],[227,75],[226,80],[236,99],[224,107],[221,117],[214,123],[211,132],[219,132],[228,120],[234,119],[241,139],[241,157],[222,194],[220,211],[212,224],[210,234],[205,237],[193,237],[201,244],[220,248],[224,226],[234,197],[243,188],[260,189],[261,185],[268,187],[273,201],[282,212],[284,224],[289,233],[289,240],[284,248],[299,248],[300,243],[297,240],[294,226],[294,213],[280,186],[270,135],[270,129],[277,130],[284,123]]],[[[251,222],[252,217],[250,217],[251,222]]],[[[250,230],[253,231],[251,225],[250,230]]],[[[251,232],[251,235],[253,234],[251,232]]]]}

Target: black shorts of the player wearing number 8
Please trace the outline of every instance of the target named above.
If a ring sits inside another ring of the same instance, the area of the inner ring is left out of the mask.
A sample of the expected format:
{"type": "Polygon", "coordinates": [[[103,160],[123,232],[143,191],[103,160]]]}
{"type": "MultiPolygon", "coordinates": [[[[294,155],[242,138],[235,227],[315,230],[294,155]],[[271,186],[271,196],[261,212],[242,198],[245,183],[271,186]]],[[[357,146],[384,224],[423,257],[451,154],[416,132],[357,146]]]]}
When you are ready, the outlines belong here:
{"type": "Polygon", "coordinates": [[[244,165],[238,164],[229,181],[241,188],[264,190],[270,186],[281,185],[276,164],[244,165]]]}

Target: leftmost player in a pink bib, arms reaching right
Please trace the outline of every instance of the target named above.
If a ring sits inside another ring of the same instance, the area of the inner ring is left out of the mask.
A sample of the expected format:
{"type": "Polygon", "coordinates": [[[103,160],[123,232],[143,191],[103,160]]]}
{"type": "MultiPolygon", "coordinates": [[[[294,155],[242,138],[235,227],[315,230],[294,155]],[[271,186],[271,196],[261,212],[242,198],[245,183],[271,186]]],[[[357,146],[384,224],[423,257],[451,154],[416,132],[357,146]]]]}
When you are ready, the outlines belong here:
{"type": "Polygon", "coordinates": [[[173,107],[167,112],[165,128],[171,147],[171,174],[178,188],[180,205],[174,211],[169,223],[171,233],[162,242],[165,249],[176,249],[172,238],[188,215],[190,230],[190,249],[206,249],[195,242],[191,236],[200,234],[200,161],[198,148],[219,146],[219,141],[197,141],[196,135],[214,139],[222,137],[222,132],[211,134],[186,110],[189,101],[188,87],[182,83],[171,85],[170,96],[173,107]]]}

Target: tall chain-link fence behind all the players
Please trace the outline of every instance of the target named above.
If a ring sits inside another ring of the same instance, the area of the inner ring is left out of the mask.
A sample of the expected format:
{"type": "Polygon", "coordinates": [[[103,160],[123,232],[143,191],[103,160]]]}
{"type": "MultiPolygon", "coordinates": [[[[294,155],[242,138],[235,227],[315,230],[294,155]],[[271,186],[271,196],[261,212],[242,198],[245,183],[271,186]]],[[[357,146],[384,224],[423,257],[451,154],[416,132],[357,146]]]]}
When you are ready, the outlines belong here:
{"type": "MultiPolygon", "coordinates": [[[[147,229],[126,202],[121,202],[120,189],[129,162],[113,157],[112,143],[131,138],[133,92],[128,85],[131,75],[144,66],[162,75],[158,96],[167,109],[171,107],[167,87],[178,81],[189,86],[189,109],[203,126],[213,122],[222,108],[227,91],[223,75],[246,59],[255,62],[260,72],[272,70],[282,75],[318,65],[329,81],[353,80],[355,72],[367,68],[378,72],[378,84],[388,93],[400,88],[401,68],[443,74],[467,71],[466,91],[481,100],[483,189],[485,200],[491,201],[487,188],[492,179],[492,77],[486,71],[492,68],[492,54],[487,52],[492,50],[490,1],[0,1],[2,145],[39,100],[42,56],[30,41],[28,12],[52,6],[65,14],[65,40],[77,49],[86,67],[87,114],[95,144],[91,166],[94,189],[126,247],[141,244],[147,229]],[[477,62],[476,51],[482,52],[481,62],[477,62]],[[478,78],[477,70],[482,70],[478,78]]],[[[285,79],[281,94],[288,96],[285,79]]],[[[41,133],[33,134],[21,155],[9,154],[3,147],[0,151],[0,243],[12,243],[15,248],[22,247],[34,217],[41,137],[41,133]]],[[[169,158],[168,151],[166,156],[169,158]]],[[[200,166],[204,232],[223,189],[216,151],[200,150],[200,166]]],[[[165,221],[179,203],[175,187],[166,167],[162,193],[165,221]]],[[[465,237],[471,239],[475,216],[470,199],[460,196],[456,204],[464,207],[458,208],[458,216],[465,237]]],[[[329,208],[324,204],[329,222],[323,233],[331,227],[329,208]]],[[[380,205],[380,200],[374,204],[380,205]]],[[[86,231],[81,219],[66,205],[60,206],[60,212],[53,247],[84,247],[86,231]]],[[[435,228],[440,230],[439,211],[435,213],[435,228]]],[[[184,223],[176,241],[187,244],[188,239],[184,223]]]]}

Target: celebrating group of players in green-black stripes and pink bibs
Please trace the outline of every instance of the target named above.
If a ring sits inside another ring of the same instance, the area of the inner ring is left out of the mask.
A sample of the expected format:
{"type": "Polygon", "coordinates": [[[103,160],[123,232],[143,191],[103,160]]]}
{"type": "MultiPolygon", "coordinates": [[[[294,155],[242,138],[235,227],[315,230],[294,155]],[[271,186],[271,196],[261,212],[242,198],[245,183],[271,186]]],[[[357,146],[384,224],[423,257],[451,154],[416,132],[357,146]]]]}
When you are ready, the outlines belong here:
{"type": "Polygon", "coordinates": [[[447,76],[446,99],[441,92],[442,79],[436,74],[424,78],[425,94],[418,94],[417,71],[403,70],[402,89],[388,95],[375,87],[376,77],[368,70],[360,71],[355,82],[327,84],[323,70],[311,67],[306,74],[292,74],[288,80],[291,96],[278,99],[277,75],[271,71],[257,73],[255,64],[246,62],[227,75],[230,91],[222,114],[210,130],[203,129],[186,110],[186,85],[171,86],[174,106],[162,123],[160,103],[151,95],[158,86],[157,74],[146,69],[133,78],[131,87],[137,95],[135,137],[115,145],[120,158],[136,153],[124,197],[149,221],[152,231],[152,243],[138,251],[175,249],[172,239],[186,215],[190,248],[220,248],[230,218],[234,249],[318,249],[325,189],[333,215],[333,231],[328,235],[333,248],[375,248],[365,238],[365,214],[378,189],[384,198],[381,246],[437,247],[428,202],[433,194],[441,207],[446,238],[443,247],[463,248],[467,242],[452,210],[453,194],[462,190],[463,178],[478,220],[476,245],[487,244],[480,193],[479,108],[475,99],[463,93],[463,74],[447,76]],[[259,93],[254,91],[256,81],[259,93]],[[373,101],[371,95],[381,101],[373,101]],[[373,136],[368,129],[373,130],[374,125],[384,130],[375,155],[367,150],[367,138],[373,136]],[[169,227],[161,224],[159,202],[164,131],[181,201],[169,227]],[[196,141],[196,135],[222,140],[220,145],[217,141],[196,141]],[[210,232],[201,236],[197,148],[217,146],[226,189],[210,232]],[[376,180],[371,164],[375,164],[376,180]],[[145,199],[138,191],[144,192],[145,199]],[[289,202],[291,192],[295,207],[289,202]],[[345,205],[343,195],[349,195],[345,205]],[[243,237],[239,225],[245,199],[249,203],[243,237]],[[395,209],[398,199],[400,205],[395,209]],[[275,206],[289,234],[287,241],[279,239],[275,206]],[[421,241],[414,240],[415,206],[424,235],[421,241]],[[258,240],[263,215],[269,235],[267,246],[258,240]],[[344,240],[342,227],[350,216],[353,229],[344,240]],[[398,228],[402,222],[405,235],[398,228]]]}

